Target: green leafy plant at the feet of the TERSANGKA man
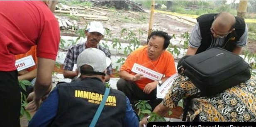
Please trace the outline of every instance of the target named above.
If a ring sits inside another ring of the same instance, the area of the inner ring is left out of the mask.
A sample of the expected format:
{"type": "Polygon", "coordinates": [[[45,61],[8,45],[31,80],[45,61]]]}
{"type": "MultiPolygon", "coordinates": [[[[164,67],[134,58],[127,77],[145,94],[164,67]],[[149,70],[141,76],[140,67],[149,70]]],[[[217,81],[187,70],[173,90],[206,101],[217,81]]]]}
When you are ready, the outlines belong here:
{"type": "MultiPolygon", "coordinates": [[[[148,100],[149,101],[149,100],[148,100]]],[[[139,100],[138,103],[135,104],[136,109],[138,109],[138,115],[139,118],[142,120],[142,118],[144,118],[144,115],[150,115],[152,108],[149,105],[148,101],[144,101],[144,100],[139,100]]]]}

